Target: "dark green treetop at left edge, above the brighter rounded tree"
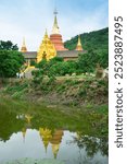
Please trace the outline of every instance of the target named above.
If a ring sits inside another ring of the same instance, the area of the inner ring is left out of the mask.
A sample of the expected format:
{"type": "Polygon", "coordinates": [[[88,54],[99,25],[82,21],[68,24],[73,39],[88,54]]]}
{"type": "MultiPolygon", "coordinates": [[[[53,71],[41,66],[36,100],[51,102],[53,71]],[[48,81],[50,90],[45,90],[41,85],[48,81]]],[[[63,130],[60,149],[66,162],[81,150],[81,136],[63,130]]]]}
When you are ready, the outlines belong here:
{"type": "Polygon", "coordinates": [[[17,45],[14,45],[12,42],[0,40],[0,50],[18,50],[17,45]]]}

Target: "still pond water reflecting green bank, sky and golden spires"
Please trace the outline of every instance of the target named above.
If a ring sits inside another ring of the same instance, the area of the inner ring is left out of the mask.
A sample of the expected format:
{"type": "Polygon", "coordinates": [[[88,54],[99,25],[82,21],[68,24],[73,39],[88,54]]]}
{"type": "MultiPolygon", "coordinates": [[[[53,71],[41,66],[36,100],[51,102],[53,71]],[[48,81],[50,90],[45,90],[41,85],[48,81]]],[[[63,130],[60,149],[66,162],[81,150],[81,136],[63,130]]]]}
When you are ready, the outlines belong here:
{"type": "Polygon", "coordinates": [[[21,102],[0,102],[0,163],[56,159],[65,164],[107,164],[107,137],[99,116],[21,102]]]}

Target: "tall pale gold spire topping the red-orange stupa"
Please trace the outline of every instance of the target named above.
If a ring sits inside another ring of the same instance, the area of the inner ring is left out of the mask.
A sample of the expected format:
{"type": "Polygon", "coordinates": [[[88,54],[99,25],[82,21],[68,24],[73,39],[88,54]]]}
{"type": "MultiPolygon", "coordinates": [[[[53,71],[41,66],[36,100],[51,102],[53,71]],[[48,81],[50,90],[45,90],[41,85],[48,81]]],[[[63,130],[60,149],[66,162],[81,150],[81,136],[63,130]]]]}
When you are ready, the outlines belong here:
{"type": "Polygon", "coordinates": [[[53,28],[52,28],[52,34],[60,34],[56,15],[58,15],[58,10],[55,9],[54,10],[54,24],[53,24],[53,28]]]}

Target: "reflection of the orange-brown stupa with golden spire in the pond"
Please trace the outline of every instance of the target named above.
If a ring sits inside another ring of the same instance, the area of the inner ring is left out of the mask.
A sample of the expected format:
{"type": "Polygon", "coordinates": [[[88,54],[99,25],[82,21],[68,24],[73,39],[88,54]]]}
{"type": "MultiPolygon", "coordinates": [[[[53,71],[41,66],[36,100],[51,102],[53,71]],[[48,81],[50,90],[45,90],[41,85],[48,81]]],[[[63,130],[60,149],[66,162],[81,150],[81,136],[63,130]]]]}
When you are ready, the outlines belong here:
{"type": "Polygon", "coordinates": [[[63,137],[63,130],[55,130],[50,141],[52,144],[52,152],[53,152],[54,159],[56,159],[58,156],[62,137],[63,137]]]}

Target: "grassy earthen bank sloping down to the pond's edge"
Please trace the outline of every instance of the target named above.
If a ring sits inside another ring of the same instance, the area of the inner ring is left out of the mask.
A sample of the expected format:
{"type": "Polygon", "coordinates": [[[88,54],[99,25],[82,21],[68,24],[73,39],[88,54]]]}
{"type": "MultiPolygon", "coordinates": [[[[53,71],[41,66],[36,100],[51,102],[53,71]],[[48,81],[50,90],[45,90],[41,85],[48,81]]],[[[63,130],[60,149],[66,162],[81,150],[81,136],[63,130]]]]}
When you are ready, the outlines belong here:
{"type": "Polygon", "coordinates": [[[11,80],[1,87],[0,95],[30,102],[69,106],[107,105],[107,80],[92,77],[60,77],[55,81],[11,80]]]}

